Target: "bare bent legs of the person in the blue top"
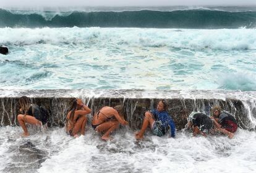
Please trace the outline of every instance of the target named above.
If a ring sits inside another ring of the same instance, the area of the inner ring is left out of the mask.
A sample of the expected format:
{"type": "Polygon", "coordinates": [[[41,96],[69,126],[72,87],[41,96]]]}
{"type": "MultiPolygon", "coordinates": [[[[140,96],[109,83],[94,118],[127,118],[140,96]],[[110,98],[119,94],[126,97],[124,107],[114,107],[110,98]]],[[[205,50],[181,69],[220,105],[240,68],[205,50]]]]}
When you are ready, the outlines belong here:
{"type": "Polygon", "coordinates": [[[150,112],[145,112],[145,117],[143,119],[142,123],[142,129],[140,129],[140,132],[135,133],[135,138],[137,140],[141,140],[143,138],[143,135],[145,133],[145,130],[147,129],[148,125],[150,127],[153,127],[155,120],[153,119],[153,115],[150,112]]]}

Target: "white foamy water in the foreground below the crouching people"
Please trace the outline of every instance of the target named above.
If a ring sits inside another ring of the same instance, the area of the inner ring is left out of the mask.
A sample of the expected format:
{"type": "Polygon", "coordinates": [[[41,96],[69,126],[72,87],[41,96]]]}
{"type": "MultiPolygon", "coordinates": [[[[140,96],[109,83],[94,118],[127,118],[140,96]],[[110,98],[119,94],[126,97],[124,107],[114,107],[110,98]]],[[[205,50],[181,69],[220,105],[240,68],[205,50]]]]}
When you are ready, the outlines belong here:
{"type": "Polygon", "coordinates": [[[232,140],[179,132],[175,139],[146,133],[140,142],[126,129],[118,130],[110,142],[101,141],[91,127],[76,139],[63,129],[28,138],[19,137],[19,127],[1,127],[0,132],[1,172],[256,171],[256,133],[241,129],[232,140]]]}

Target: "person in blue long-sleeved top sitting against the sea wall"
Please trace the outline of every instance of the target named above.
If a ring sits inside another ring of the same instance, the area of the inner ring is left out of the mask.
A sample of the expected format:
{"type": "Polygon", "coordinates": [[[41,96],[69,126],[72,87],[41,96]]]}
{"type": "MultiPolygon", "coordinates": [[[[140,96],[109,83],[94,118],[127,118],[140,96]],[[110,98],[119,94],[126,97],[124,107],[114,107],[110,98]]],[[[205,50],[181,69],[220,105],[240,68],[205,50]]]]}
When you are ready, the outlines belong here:
{"type": "Polygon", "coordinates": [[[165,100],[161,100],[157,104],[157,108],[151,111],[147,111],[144,114],[142,129],[135,133],[137,140],[143,139],[145,130],[150,127],[153,135],[158,137],[163,136],[170,128],[169,137],[175,137],[175,124],[171,116],[167,112],[168,104],[165,100]]]}

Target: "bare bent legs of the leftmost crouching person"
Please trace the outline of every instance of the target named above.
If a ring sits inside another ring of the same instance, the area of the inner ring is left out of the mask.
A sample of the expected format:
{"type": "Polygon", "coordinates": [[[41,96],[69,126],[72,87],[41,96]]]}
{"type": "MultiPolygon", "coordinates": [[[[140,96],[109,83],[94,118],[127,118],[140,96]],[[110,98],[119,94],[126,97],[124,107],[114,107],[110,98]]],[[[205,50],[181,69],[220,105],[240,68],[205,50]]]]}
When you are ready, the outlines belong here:
{"type": "Polygon", "coordinates": [[[27,126],[26,126],[26,123],[28,124],[33,124],[33,125],[41,125],[41,121],[36,119],[35,117],[33,116],[25,116],[23,114],[19,114],[17,116],[17,119],[18,119],[18,122],[20,124],[20,126],[22,127],[23,129],[23,133],[22,133],[22,136],[23,137],[27,137],[29,136],[29,133],[28,133],[28,129],[27,129],[27,126]]]}

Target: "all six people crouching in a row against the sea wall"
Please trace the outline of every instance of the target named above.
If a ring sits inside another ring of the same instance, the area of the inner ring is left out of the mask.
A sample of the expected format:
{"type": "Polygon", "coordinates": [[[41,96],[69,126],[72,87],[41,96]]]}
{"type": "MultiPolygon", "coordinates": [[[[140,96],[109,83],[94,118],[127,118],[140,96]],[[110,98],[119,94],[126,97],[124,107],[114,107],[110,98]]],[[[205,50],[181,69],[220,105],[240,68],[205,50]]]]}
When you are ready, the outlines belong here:
{"type": "MultiPolygon", "coordinates": [[[[30,99],[22,96],[19,99],[20,114],[17,116],[18,122],[23,129],[22,136],[28,136],[26,124],[44,125],[47,122],[42,109],[32,104],[30,99]]],[[[88,114],[92,110],[83,104],[82,99],[74,99],[72,106],[66,116],[66,132],[73,137],[85,135],[85,125],[87,124],[88,114]]],[[[192,112],[186,115],[187,125],[185,129],[191,129],[193,135],[207,133],[223,133],[229,138],[234,137],[237,130],[237,122],[228,112],[222,111],[220,106],[214,106],[212,109],[213,116],[207,116],[202,112],[192,112]]],[[[100,111],[96,112],[92,119],[92,128],[101,134],[102,140],[111,140],[109,136],[114,130],[121,125],[128,125],[124,119],[126,111],[123,106],[118,105],[114,108],[104,106],[100,111]]],[[[184,118],[184,117],[183,117],[184,118]]],[[[175,137],[176,128],[173,119],[168,113],[168,103],[164,99],[158,102],[156,109],[144,113],[142,128],[135,133],[137,140],[142,140],[145,131],[150,128],[153,135],[161,137],[168,133],[169,137],[175,137]]]]}

